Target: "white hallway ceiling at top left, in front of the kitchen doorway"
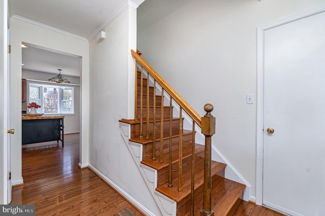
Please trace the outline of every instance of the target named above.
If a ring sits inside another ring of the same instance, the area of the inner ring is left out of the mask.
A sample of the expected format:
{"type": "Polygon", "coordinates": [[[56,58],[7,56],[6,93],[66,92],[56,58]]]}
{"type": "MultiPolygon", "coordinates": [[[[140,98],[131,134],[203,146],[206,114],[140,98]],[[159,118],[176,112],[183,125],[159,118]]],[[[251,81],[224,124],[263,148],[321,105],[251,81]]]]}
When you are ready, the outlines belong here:
{"type": "Polygon", "coordinates": [[[89,39],[125,0],[10,0],[17,15],[89,39]]]}

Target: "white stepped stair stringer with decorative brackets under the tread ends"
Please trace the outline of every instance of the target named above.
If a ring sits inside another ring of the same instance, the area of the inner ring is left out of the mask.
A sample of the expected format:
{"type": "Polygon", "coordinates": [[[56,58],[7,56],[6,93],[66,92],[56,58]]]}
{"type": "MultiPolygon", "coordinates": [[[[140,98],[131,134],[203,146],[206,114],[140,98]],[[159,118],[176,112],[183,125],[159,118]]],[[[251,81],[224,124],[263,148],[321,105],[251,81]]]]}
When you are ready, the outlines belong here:
{"type": "Polygon", "coordinates": [[[143,146],[140,143],[128,140],[131,137],[131,125],[122,122],[119,122],[119,124],[123,141],[137,164],[139,171],[142,174],[142,177],[149,191],[151,192],[152,197],[157,203],[161,214],[164,216],[176,216],[177,202],[155,190],[157,187],[157,170],[141,164],[143,146]]]}

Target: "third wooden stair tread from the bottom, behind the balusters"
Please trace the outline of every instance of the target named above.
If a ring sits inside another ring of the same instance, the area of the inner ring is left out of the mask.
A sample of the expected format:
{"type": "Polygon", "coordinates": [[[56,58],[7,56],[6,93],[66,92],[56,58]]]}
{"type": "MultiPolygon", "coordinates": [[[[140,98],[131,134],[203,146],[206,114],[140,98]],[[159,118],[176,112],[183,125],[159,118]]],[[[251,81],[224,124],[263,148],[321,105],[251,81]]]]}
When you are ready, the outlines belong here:
{"type": "MultiPolygon", "coordinates": [[[[188,143],[188,144],[190,144],[190,143],[188,143]]],[[[183,143],[183,145],[184,145],[184,143],[183,143]]],[[[204,151],[204,146],[200,145],[200,144],[195,144],[195,150],[194,151],[195,151],[195,153],[203,152],[204,151]]],[[[172,163],[178,163],[178,161],[179,161],[178,152],[179,152],[178,149],[173,151],[172,163]]],[[[192,154],[192,147],[191,147],[191,145],[187,145],[186,147],[183,148],[183,157],[182,157],[182,159],[190,157],[191,154],[192,154]]],[[[157,159],[155,161],[153,161],[153,160],[143,160],[143,161],[141,161],[141,163],[144,164],[144,165],[147,165],[147,166],[149,166],[149,167],[151,167],[153,169],[156,169],[156,170],[160,170],[160,169],[163,169],[163,168],[169,166],[169,160],[168,160],[169,152],[163,154],[163,163],[160,163],[159,155],[156,155],[156,158],[157,159]]]]}

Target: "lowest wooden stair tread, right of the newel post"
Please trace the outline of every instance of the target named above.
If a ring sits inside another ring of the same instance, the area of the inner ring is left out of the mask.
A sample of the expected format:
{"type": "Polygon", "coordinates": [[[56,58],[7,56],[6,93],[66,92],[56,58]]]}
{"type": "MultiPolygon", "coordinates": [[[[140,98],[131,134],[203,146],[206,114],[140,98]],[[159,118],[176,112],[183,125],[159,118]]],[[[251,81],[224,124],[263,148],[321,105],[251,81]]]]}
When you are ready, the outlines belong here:
{"type": "Polygon", "coordinates": [[[217,178],[220,178],[218,184],[212,184],[212,209],[215,216],[227,215],[246,186],[224,177],[217,176],[217,178]]]}

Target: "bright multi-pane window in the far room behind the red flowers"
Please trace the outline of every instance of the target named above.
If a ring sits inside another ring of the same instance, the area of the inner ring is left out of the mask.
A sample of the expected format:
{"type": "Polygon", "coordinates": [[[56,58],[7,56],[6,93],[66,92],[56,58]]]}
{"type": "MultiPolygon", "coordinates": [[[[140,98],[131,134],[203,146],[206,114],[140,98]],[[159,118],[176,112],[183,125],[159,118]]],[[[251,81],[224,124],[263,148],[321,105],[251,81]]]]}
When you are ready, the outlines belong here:
{"type": "Polygon", "coordinates": [[[41,105],[44,114],[73,114],[74,88],[29,84],[29,103],[41,105]]]}

